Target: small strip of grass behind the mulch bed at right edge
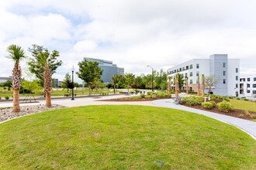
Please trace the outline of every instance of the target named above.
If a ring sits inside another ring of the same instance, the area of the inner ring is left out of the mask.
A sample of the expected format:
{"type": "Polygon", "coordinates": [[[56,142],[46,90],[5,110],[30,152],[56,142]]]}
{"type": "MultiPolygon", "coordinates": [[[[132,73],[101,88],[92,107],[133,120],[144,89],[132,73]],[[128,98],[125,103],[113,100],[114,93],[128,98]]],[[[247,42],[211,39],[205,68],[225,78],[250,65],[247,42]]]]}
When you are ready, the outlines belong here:
{"type": "Polygon", "coordinates": [[[237,100],[237,99],[228,99],[228,100],[230,100],[230,103],[234,105],[235,109],[249,110],[249,111],[256,112],[256,102],[237,100]]]}

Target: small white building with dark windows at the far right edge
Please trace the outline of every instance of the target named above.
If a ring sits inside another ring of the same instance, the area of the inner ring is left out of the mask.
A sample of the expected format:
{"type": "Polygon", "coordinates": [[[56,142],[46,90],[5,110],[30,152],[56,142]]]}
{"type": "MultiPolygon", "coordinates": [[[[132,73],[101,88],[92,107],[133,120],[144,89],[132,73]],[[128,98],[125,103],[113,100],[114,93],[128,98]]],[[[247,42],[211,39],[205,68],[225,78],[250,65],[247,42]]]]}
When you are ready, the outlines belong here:
{"type": "Polygon", "coordinates": [[[240,76],[240,96],[256,97],[256,74],[240,76]]]}

